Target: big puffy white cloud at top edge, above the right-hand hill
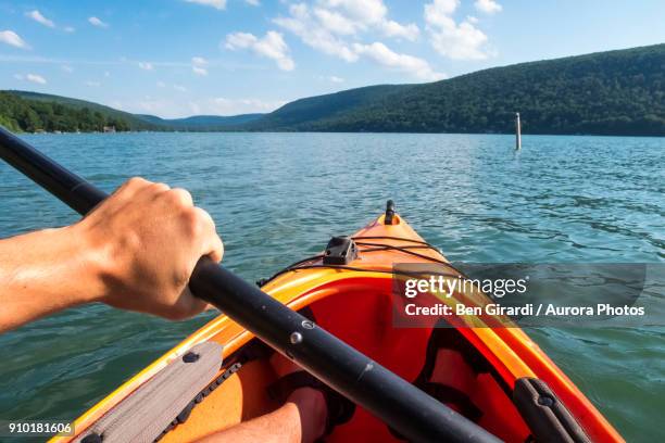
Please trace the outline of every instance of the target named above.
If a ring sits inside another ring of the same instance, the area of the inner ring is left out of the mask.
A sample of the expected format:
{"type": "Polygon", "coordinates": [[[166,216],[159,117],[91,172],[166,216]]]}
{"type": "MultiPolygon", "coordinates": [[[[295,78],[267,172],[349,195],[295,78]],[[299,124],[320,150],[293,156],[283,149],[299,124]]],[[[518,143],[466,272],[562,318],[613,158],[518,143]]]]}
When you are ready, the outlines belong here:
{"type": "Polygon", "coordinates": [[[490,53],[485,49],[487,36],[474,26],[473,20],[460,24],[451,17],[460,0],[434,0],[425,4],[425,22],[429,41],[443,56],[453,60],[484,60],[490,53]]]}

